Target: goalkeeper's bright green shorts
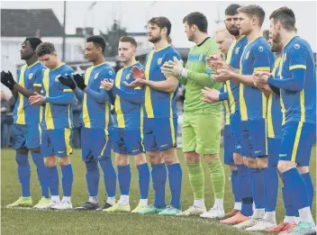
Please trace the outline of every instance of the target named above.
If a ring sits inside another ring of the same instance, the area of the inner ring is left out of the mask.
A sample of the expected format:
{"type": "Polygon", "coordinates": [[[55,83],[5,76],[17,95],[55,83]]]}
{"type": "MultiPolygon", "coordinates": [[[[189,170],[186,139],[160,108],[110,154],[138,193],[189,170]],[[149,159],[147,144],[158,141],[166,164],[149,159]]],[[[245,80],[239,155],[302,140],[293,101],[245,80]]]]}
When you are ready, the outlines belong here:
{"type": "Polygon", "coordinates": [[[222,114],[183,115],[183,152],[198,154],[218,154],[222,131],[222,114]]]}

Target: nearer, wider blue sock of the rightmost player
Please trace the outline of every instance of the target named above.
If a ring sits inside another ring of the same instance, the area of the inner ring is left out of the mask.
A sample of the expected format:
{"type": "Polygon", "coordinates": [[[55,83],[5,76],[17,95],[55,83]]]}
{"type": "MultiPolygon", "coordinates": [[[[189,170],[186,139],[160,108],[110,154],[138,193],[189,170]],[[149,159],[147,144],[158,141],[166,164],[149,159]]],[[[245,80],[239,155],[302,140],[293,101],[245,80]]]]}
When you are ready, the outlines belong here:
{"type": "Polygon", "coordinates": [[[303,177],[296,168],[291,168],[282,173],[285,185],[292,192],[291,200],[295,210],[310,206],[308,193],[303,177]]]}

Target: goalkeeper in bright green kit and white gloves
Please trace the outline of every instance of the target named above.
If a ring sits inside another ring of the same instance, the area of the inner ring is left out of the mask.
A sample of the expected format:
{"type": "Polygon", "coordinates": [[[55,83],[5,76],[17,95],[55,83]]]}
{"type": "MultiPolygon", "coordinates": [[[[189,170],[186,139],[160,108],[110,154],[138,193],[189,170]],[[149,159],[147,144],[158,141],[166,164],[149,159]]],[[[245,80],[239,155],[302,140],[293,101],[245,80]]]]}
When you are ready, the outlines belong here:
{"type": "Polygon", "coordinates": [[[214,72],[205,59],[220,54],[216,42],[208,36],[208,22],[204,14],[191,13],[183,20],[188,41],[195,46],[189,51],[186,68],[181,61],[168,61],[161,68],[166,76],[173,75],[186,87],[183,117],[183,151],[186,158],[189,180],[194,191],[194,205],[179,215],[200,215],[204,218],[219,218],[224,215],[224,171],[219,158],[222,129],[222,104],[207,104],[202,101],[202,89],[207,86],[220,89],[222,84],[211,79],[214,72]],[[212,178],[214,205],[206,212],[204,204],[204,171],[200,156],[212,178]]]}

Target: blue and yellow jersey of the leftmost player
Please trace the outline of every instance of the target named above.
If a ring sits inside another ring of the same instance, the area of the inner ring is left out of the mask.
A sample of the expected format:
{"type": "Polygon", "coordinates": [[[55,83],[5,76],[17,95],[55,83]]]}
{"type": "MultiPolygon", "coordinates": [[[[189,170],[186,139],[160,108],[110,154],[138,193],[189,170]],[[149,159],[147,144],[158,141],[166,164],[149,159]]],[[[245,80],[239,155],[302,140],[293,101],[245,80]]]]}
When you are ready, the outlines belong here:
{"type": "MultiPolygon", "coordinates": [[[[18,69],[17,83],[28,90],[33,91],[33,86],[41,86],[41,73],[45,68],[40,61],[35,62],[30,67],[23,65],[18,69]]],[[[29,98],[18,94],[14,105],[14,123],[32,124],[40,122],[40,107],[32,107],[29,98]]]]}

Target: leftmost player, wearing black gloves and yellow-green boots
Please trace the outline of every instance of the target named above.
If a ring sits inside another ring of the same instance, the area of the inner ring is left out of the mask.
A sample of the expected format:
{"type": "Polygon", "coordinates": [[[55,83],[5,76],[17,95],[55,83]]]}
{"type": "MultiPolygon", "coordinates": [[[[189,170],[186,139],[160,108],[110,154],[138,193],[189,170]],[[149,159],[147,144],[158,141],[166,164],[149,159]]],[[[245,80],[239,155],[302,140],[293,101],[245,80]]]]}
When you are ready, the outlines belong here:
{"type": "Polygon", "coordinates": [[[1,73],[1,82],[7,86],[14,95],[17,95],[14,105],[14,125],[13,125],[13,149],[15,149],[15,161],[18,165],[18,176],[22,185],[22,196],[7,207],[32,206],[30,194],[31,168],[29,164],[29,150],[32,159],[37,167],[37,174],[41,184],[41,200],[34,207],[41,209],[43,205],[49,203],[48,173],[41,156],[41,118],[40,107],[32,107],[28,97],[40,94],[41,72],[45,68],[39,61],[35,50],[41,40],[29,37],[23,41],[21,59],[26,64],[18,69],[17,82],[11,72],[1,73]]]}

